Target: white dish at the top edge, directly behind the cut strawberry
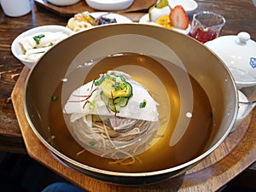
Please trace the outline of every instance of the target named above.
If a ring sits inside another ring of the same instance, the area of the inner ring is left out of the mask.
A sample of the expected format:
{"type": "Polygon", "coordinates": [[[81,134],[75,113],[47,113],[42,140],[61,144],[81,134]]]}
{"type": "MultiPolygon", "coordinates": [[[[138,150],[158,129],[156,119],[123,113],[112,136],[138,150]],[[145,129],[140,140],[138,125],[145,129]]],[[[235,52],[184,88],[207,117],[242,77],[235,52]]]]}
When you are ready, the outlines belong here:
{"type": "Polygon", "coordinates": [[[172,9],[177,5],[183,6],[187,15],[193,14],[198,7],[198,4],[194,0],[168,0],[168,2],[172,9]]]}

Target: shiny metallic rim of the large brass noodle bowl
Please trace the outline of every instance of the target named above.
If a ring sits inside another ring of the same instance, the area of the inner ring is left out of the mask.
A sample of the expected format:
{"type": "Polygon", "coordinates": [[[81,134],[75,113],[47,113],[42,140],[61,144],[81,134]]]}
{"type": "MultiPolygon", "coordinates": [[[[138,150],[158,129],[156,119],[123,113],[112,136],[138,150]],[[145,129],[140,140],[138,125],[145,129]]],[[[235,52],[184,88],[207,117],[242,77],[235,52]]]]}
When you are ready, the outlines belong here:
{"type": "MultiPolygon", "coordinates": [[[[149,26],[149,25],[138,25],[138,24],[135,24],[135,23],[128,23],[128,24],[116,24],[116,25],[106,25],[106,26],[98,26],[98,27],[94,27],[91,30],[99,30],[99,28],[101,27],[114,27],[114,26],[138,26],[138,27],[142,27],[142,26],[148,26],[148,27],[155,27],[155,26],[149,26]]],[[[158,27],[160,30],[168,30],[168,29],[165,29],[163,27],[158,27]]],[[[86,31],[85,31],[86,32],[86,31]]],[[[64,39],[63,41],[66,41],[68,39],[64,39]]],[[[196,42],[196,41],[195,41],[196,42]]],[[[199,44],[199,43],[198,43],[199,44]]],[[[204,45],[201,45],[203,47],[205,47],[204,45]]],[[[51,51],[53,49],[50,49],[51,51]]],[[[224,66],[224,68],[226,68],[224,66]]],[[[227,70],[227,68],[226,68],[227,70]]],[[[230,72],[227,70],[227,73],[230,74],[230,72]]],[[[28,81],[30,79],[30,77],[32,76],[32,71],[28,74],[28,77],[26,79],[26,82],[25,82],[25,94],[24,94],[24,98],[25,98],[25,101],[26,101],[26,90],[27,90],[27,84],[28,84],[28,81]]],[[[77,166],[78,168],[82,168],[86,171],[89,171],[89,172],[96,172],[98,174],[105,174],[105,175],[108,175],[108,176],[113,176],[113,177],[153,177],[153,176],[157,176],[157,175],[162,175],[162,174],[168,174],[170,172],[176,172],[178,170],[182,170],[186,167],[189,167],[189,166],[193,166],[195,165],[196,163],[199,163],[201,160],[203,160],[204,158],[206,158],[209,154],[211,154],[216,148],[218,148],[218,146],[224,142],[224,139],[230,134],[230,131],[232,129],[232,126],[235,125],[235,121],[236,121],[236,116],[237,116],[237,113],[238,113],[238,91],[237,91],[237,88],[236,88],[236,84],[235,84],[235,81],[234,79],[232,78],[232,76],[230,75],[230,80],[232,82],[232,84],[234,85],[234,90],[235,90],[235,97],[236,97],[236,108],[234,110],[234,118],[231,120],[230,122],[230,125],[229,127],[226,129],[226,131],[224,132],[224,134],[222,135],[222,137],[220,137],[218,139],[218,142],[215,143],[214,145],[212,145],[212,147],[208,148],[207,151],[205,152],[202,152],[202,154],[196,156],[194,159],[192,160],[189,160],[181,165],[178,165],[178,166],[173,166],[173,167],[170,167],[170,168],[166,168],[166,169],[163,169],[163,170],[157,170],[157,171],[153,171],[153,172],[113,172],[113,171],[108,171],[108,170],[104,170],[104,169],[99,169],[99,168],[96,168],[96,167],[93,167],[93,166],[87,166],[87,165],[84,165],[83,163],[80,163],[79,161],[77,160],[73,160],[72,158],[68,157],[67,155],[65,154],[61,154],[60,151],[58,151],[56,148],[54,148],[53,146],[51,146],[45,139],[44,137],[42,137],[40,135],[40,133],[38,132],[38,130],[36,129],[36,127],[33,125],[32,123],[32,119],[30,118],[29,116],[29,113],[28,113],[28,108],[27,108],[27,105],[26,105],[26,102],[24,102],[24,108],[25,108],[25,114],[26,114],[26,119],[29,123],[29,125],[32,127],[32,131],[37,135],[37,137],[39,138],[39,140],[44,143],[44,145],[50,149],[51,152],[53,152],[53,154],[55,154],[58,158],[61,158],[61,160],[65,160],[67,161],[68,163],[71,163],[72,165],[74,166],[77,166]]]]}

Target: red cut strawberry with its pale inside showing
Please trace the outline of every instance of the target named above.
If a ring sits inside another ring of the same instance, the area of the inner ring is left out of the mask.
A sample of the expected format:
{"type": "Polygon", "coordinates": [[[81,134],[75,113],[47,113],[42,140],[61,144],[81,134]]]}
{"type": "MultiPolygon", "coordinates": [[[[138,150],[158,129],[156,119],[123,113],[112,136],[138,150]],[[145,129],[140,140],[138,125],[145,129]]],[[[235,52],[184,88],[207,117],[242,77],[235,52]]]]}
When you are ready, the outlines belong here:
{"type": "Polygon", "coordinates": [[[177,5],[175,6],[170,15],[170,23],[171,26],[179,28],[179,29],[186,29],[189,26],[189,17],[186,14],[183,6],[177,5]]]}

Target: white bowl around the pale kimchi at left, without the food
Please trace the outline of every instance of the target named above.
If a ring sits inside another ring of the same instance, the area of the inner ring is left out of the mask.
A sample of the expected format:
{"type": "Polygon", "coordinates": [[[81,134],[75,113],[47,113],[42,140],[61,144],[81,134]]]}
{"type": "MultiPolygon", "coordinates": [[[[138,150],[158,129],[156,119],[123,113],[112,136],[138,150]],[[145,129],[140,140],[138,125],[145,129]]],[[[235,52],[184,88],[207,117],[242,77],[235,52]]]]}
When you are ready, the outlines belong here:
{"type": "Polygon", "coordinates": [[[38,32],[64,32],[68,36],[73,35],[73,31],[71,29],[68,29],[66,26],[56,26],[56,25],[38,26],[30,30],[27,30],[26,32],[22,32],[13,41],[11,45],[11,51],[18,60],[20,60],[24,65],[26,65],[26,67],[29,67],[29,68],[32,68],[34,65],[36,65],[38,61],[29,61],[22,58],[22,56],[20,55],[24,54],[24,51],[22,50],[19,42],[20,42],[20,38],[25,38],[27,36],[31,36],[38,32]]]}

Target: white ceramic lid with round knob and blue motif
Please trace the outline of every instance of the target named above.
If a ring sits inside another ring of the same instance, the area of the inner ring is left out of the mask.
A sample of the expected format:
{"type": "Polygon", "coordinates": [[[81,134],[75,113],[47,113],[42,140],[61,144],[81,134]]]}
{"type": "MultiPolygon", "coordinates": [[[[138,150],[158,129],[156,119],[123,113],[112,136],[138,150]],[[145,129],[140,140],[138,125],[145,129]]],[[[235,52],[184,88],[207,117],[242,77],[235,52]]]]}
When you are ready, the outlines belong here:
{"type": "Polygon", "coordinates": [[[205,45],[229,67],[239,88],[256,85],[256,42],[247,32],[215,38],[205,45]]]}

